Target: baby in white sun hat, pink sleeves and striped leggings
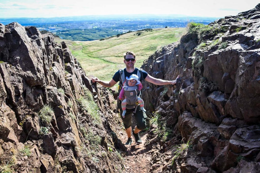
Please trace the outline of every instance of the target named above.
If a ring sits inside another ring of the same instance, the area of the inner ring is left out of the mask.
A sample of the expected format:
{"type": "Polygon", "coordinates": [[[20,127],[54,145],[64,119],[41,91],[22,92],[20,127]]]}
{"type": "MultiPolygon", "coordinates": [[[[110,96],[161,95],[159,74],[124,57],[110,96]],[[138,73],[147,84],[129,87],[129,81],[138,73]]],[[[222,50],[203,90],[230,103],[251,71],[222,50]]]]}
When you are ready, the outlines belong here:
{"type": "MultiPolygon", "coordinates": [[[[120,94],[119,94],[119,99],[122,101],[121,105],[122,105],[122,110],[123,110],[123,112],[122,112],[123,118],[125,117],[125,114],[126,114],[126,104],[127,104],[127,98],[125,98],[123,100],[123,98],[125,97],[124,88],[132,87],[132,86],[137,86],[138,91],[140,91],[143,87],[141,82],[138,80],[138,76],[136,74],[132,74],[129,78],[126,77],[126,81],[123,83],[123,88],[121,89],[120,94]]],[[[138,104],[140,104],[141,110],[146,112],[146,110],[144,109],[144,101],[140,97],[137,97],[137,101],[138,101],[138,104]]]]}

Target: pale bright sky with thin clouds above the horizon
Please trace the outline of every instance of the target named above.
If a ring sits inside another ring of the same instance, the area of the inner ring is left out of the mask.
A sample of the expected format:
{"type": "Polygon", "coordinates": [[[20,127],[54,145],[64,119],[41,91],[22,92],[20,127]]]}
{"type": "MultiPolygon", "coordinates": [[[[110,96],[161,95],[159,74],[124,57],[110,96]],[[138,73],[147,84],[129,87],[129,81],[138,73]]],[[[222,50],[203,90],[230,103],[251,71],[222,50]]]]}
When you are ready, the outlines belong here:
{"type": "Polygon", "coordinates": [[[224,17],[253,9],[259,0],[0,0],[0,18],[85,15],[185,15],[224,17]]]}

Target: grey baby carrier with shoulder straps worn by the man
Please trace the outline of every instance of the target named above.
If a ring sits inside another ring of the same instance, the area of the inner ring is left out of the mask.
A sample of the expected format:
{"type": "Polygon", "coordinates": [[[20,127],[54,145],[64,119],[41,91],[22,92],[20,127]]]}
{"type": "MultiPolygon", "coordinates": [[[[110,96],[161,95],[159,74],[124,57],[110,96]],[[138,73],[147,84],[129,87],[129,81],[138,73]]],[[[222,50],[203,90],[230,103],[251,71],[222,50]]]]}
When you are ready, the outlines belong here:
{"type": "MultiPolygon", "coordinates": [[[[124,69],[119,69],[120,78],[119,78],[119,86],[118,86],[118,94],[120,93],[121,89],[123,88],[123,82],[126,80],[124,69]]],[[[138,80],[143,80],[143,73],[142,69],[138,68],[137,71],[138,80]]],[[[137,97],[141,96],[141,91],[138,91],[138,86],[128,86],[123,88],[125,91],[125,97],[127,98],[127,105],[126,109],[134,109],[134,112],[136,112],[137,106],[138,106],[138,99],[137,97]]],[[[119,100],[119,96],[117,97],[117,110],[119,109],[119,104],[121,101],[119,100]]]]}

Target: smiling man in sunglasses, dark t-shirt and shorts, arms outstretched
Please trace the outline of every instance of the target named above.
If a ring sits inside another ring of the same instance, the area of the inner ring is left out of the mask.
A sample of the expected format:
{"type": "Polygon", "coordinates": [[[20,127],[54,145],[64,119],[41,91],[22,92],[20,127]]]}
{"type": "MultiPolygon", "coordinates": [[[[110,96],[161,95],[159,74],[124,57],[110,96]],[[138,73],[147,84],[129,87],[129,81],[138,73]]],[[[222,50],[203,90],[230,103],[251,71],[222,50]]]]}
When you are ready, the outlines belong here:
{"type": "MultiPolygon", "coordinates": [[[[125,77],[129,78],[130,75],[137,74],[138,68],[134,67],[135,61],[136,61],[135,60],[135,54],[131,51],[127,51],[124,55],[124,63],[126,64],[126,68],[124,69],[125,77]]],[[[145,81],[151,82],[152,84],[155,84],[155,85],[168,85],[168,84],[175,85],[177,78],[179,78],[179,76],[178,76],[176,78],[176,80],[172,80],[172,81],[156,79],[156,78],[150,76],[144,70],[142,70],[142,74],[143,74],[143,79],[145,81]]],[[[117,71],[110,81],[102,81],[102,80],[94,77],[94,78],[92,78],[92,82],[97,82],[104,87],[112,87],[119,81],[119,78],[120,78],[120,72],[117,71]]],[[[134,113],[137,125],[135,126],[134,130],[132,131],[132,128],[131,128],[132,113],[133,113],[134,110],[126,109],[125,118],[123,118],[122,117],[121,104],[119,104],[119,105],[120,105],[119,106],[120,116],[121,116],[121,119],[123,120],[123,124],[125,126],[125,131],[126,131],[126,134],[127,134],[127,137],[128,137],[126,145],[132,144],[131,134],[134,137],[135,142],[137,144],[142,143],[142,140],[139,136],[139,132],[146,128],[146,118],[147,118],[147,116],[146,116],[145,112],[143,112],[140,109],[140,106],[137,107],[136,113],[134,113]]]]}

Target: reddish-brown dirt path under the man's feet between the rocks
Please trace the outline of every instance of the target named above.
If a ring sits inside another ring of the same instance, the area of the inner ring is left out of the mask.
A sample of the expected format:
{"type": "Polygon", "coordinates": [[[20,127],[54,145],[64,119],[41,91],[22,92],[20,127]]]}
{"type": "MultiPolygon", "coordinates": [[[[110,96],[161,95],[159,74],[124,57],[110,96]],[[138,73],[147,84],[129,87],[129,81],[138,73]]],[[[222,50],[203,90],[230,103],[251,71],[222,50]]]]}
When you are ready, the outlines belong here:
{"type": "MultiPolygon", "coordinates": [[[[123,155],[125,172],[142,173],[150,172],[152,156],[151,152],[145,148],[147,132],[141,133],[141,144],[136,144],[133,137],[133,143],[127,147],[127,152],[123,155]]],[[[122,143],[127,141],[126,133],[120,136],[122,143]]]]}

